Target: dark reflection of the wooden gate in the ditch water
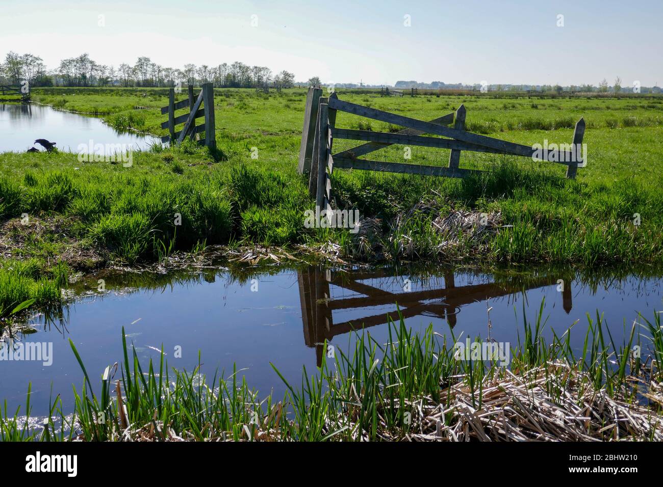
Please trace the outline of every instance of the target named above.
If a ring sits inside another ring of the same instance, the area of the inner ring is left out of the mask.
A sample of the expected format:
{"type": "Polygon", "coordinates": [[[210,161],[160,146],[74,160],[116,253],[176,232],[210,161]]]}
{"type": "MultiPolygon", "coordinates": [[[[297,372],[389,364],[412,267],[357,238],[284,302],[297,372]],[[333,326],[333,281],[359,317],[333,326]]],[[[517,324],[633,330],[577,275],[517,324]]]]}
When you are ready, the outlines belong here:
{"type": "MultiPolygon", "coordinates": [[[[304,325],[304,343],[316,348],[316,362],[322,364],[324,341],[331,341],[336,335],[343,335],[353,330],[383,325],[390,319],[398,321],[398,311],[379,313],[359,319],[350,319],[341,323],[333,322],[333,311],[356,309],[369,306],[394,305],[398,302],[400,315],[405,319],[425,315],[446,319],[450,327],[456,324],[456,315],[463,305],[475,301],[510,296],[522,290],[531,290],[557,284],[557,277],[542,276],[528,284],[521,282],[470,284],[455,286],[453,272],[444,272],[444,287],[410,292],[390,292],[360,282],[368,279],[383,280],[402,276],[387,270],[366,272],[353,270],[350,272],[334,272],[318,267],[298,270],[299,296],[302,306],[302,322],[304,325]],[[330,285],[350,290],[363,295],[351,298],[332,298],[330,285]],[[435,302],[425,302],[430,300],[435,302]]],[[[565,280],[562,292],[564,310],[569,313],[572,308],[571,280],[565,280]]]]}

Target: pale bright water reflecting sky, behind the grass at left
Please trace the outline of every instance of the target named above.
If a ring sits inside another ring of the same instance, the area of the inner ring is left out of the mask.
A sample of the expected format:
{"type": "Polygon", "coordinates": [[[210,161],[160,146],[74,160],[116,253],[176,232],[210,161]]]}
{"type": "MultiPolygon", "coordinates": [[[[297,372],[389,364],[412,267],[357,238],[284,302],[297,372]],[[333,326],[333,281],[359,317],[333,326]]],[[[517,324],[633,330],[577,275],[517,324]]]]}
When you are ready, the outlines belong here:
{"type": "MultiPolygon", "coordinates": [[[[135,133],[118,133],[96,117],[58,111],[44,105],[0,104],[0,152],[23,152],[33,145],[44,150],[34,144],[38,138],[56,142],[59,150],[76,153],[81,144],[86,147],[86,152],[90,152],[90,140],[93,145],[123,144],[125,150],[146,150],[158,140],[135,133]]],[[[111,149],[109,152],[115,151],[111,149]]]]}

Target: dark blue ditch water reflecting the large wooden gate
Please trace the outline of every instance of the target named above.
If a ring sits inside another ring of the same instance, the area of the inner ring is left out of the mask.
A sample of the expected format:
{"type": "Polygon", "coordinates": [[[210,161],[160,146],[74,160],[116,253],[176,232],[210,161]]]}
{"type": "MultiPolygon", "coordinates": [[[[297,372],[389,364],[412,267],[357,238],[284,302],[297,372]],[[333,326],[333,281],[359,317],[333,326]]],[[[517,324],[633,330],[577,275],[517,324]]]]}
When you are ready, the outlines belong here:
{"type": "MultiPolygon", "coordinates": [[[[522,305],[534,319],[542,299],[548,317],[545,336],[558,335],[575,321],[572,345],[579,352],[587,331],[587,313],[604,314],[619,347],[640,311],[652,321],[663,309],[662,274],[582,276],[573,271],[482,274],[473,270],[351,270],[317,267],[280,268],[237,276],[225,269],[172,274],[105,276],[106,291],[97,278],[74,285],[80,296],[58,317],[40,314],[30,323],[38,330],[23,341],[52,343],[52,365],[41,362],[0,362],[0,400],[10,409],[25,404],[32,382],[33,413],[45,415],[51,388],[72,404],[72,383],[80,388],[82,372],[70,349],[72,339],[98,387],[106,366],[122,360],[121,329],[141,360],[158,363],[163,345],[169,366],[192,370],[202,352],[203,372],[231,373],[233,363],[263,397],[285,390],[270,366],[295,385],[302,365],[309,372],[322,358],[328,339],[345,351],[353,328],[364,325],[373,337],[387,341],[387,315],[397,319],[398,301],[406,324],[424,330],[430,323],[443,335],[485,339],[487,307],[493,307],[491,336],[517,343],[522,337],[522,305]],[[564,292],[558,291],[563,279],[564,292]],[[176,347],[182,357],[175,358],[176,347]]],[[[643,330],[644,331],[644,330],[643,330]]],[[[646,340],[644,341],[646,343],[646,340]]],[[[240,374],[240,375],[241,375],[240,374]]],[[[12,409],[13,410],[13,409],[12,409]]]]}

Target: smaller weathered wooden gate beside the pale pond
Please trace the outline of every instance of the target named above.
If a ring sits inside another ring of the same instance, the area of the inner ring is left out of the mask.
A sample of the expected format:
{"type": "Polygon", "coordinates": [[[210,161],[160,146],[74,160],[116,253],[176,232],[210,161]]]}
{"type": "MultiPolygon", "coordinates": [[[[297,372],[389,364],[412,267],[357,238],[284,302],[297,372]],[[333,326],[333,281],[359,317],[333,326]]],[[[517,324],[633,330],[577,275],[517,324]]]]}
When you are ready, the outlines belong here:
{"type": "Polygon", "coordinates": [[[216,148],[214,125],[214,90],[212,83],[204,83],[198,97],[194,96],[194,85],[188,85],[188,98],[175,101],[175,89],[168,90],[168,106],[161,107],[161,115],[168,114],[168,120],[161,123],[162,129],[168,129],[169,135],[161,137],[162,142],[175,142],[181,144],[189,136],[197,140],[198,134],[204,133],[205,138],[198,140],[198,144],[209,148],[216,148]],[[188,113],[175,115],[176,111],[188,109],[188,113]],[[204,118],[205,123],[196,125],[196,119],[204,118]],[[184,127],[175,131],[180,124],[184,127]]]}

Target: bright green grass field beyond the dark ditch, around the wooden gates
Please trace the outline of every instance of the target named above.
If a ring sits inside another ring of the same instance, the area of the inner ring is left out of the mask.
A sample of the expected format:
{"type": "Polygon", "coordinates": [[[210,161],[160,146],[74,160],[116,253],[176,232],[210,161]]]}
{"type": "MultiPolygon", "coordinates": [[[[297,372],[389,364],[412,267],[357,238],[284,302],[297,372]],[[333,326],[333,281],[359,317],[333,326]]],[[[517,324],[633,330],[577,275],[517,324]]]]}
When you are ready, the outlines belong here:
{"type": "MultiPolygon", "coordinates": [[[[461,168],[487,172],[450,180],[339,170],[332,177],[337,204],[358,209],[370,233],[307,229],[304,211],[314,201],[296,172],[306,90],[216,89],[215,157],[194,144],[134,154],[131,168],[78,162],[76,154],[62,152],[0,154],[0,280],[23,282],[3,292],[0,309],[35,296],[54,299],[46,288],[66,272],[58,262],[87,272],[109,261],[154,262],[202,244],[331,241],[345,258],[369,262],[662,261],[663,98],[338,95],[423,120],[463,103],[468,130],[526,145],[570,143],[575,122],[584,117],[587,167],[572,181],[560,164],[463,152],[461,168]],[[492,231],[479,238],[471,229],[440,225],[454,211],[491,215],[492,231]],[[24,213],[28,225],[19,224],[24,213]],[[175,224],[176,214],[182,225],[175,224]],[[38,277],[43,273],[35,269],[50,274],[38,277]]],[[[117,129],[166,135],[159,111],[167,105],[166,89],[44,88],[34,89],[32,100],[101,114],[117,129]]],[[[336,126],[397,130],[347,113],[339,113],[336,126]]],[[[334,151],[352,145],[337,140],[334,151]]],[[[371,158],[404,162],[403,151],[391,146],[371,158]]],[[[408,162],[446,165],[448,158],[448,150],[412,147],[408,162]]]]}

